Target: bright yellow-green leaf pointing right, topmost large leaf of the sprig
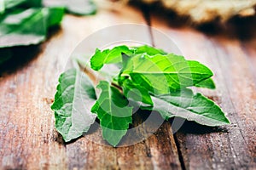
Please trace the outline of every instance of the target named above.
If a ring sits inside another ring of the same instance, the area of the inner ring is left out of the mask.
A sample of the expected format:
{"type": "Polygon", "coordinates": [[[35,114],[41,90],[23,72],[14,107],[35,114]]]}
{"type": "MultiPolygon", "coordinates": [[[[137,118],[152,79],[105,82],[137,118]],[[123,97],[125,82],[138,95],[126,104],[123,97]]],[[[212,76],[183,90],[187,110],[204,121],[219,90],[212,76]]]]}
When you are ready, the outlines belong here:
{"type": "Polygon", "coordinates": [[[169,94],[212,77],[207,66],[176,54],[137,54],[125,60],[121,77],[129,75],[133,82],[143,84],[152,94],[169,94]]]}

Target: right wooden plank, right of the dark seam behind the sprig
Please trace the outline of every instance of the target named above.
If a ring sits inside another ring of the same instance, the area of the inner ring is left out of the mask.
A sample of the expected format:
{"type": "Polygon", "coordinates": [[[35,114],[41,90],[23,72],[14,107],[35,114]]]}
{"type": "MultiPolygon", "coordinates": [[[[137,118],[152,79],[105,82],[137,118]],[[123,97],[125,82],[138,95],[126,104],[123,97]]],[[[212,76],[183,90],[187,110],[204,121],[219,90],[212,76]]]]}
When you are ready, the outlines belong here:
{"type": "MultiPolygon", "coordinates": [[[[212,69],[217,89],[201,91],[215,100],[230,117],[231,124],[224,127],[209,128],[193,122],[183,125],[176,138],[184,167],[256,168],[255,63],[249,60],[255,58],[255,46],[229,37],[209,37],[185,26],[168,26],[167,20],[154,14],[151,22],[177,43],[186,58],[199,60],[212,69]]],[[[153,37],[155,43],[158,37],[153,37]]]]}

